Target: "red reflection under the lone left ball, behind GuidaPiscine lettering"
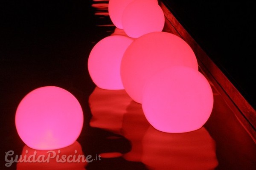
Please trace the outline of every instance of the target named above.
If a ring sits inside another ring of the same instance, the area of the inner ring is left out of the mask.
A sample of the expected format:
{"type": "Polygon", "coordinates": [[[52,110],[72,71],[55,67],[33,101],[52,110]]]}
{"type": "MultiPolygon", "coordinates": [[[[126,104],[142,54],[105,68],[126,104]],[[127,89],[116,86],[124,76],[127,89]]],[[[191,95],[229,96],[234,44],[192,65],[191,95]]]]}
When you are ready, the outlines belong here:
{"type": "Polygon", "coordinates": [[[25,145],[19,158],[27,161],[18,162],[17,170],[85,170],[87,162],[82,156],[86,158],[77,141],[58,150],[35,150],[25,145]]]}

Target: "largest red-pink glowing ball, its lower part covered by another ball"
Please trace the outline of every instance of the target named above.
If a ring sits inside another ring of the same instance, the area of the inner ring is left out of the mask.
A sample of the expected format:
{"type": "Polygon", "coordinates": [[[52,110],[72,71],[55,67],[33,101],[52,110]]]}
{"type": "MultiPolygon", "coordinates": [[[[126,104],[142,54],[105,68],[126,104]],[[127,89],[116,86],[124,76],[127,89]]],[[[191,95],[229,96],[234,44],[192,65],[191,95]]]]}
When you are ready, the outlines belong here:
{"type": "Polygon", "coordinates": [[[146,80],[163,68],[175,65],[198,70],[195,54],[184,40],[167,32],[143,35],[131,43],[122,58],[121,78],[125,91],[141,103],[146,80]]]}

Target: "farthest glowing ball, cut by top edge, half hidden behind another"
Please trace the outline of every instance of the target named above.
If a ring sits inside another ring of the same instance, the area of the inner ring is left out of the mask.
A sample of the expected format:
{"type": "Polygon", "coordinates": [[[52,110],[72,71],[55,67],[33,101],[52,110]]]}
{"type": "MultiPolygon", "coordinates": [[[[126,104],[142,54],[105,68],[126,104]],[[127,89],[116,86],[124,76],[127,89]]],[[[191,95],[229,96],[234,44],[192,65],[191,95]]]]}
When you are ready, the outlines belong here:
{"type": "Polygon", "coordinates": [[[122,26],[122,14],[126,6],[134,0],[109,0],[108,3],[108,13],[113,24],[119,28],[123,29],[122,26]]]}

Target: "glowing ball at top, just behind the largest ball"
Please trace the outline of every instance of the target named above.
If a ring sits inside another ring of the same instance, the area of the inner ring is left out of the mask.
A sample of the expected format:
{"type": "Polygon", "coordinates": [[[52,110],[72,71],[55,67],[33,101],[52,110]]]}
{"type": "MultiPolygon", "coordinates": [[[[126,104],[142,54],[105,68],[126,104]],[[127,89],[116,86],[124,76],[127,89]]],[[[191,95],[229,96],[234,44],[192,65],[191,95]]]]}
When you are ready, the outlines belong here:
{"type": "Polygon", "coordinates": [[[144,34],[162,31],[164,14],[157,3],[148,0],[135,0],[130,3],[122,15],[122,26],[129,37],[138,38],[144,34]]]}

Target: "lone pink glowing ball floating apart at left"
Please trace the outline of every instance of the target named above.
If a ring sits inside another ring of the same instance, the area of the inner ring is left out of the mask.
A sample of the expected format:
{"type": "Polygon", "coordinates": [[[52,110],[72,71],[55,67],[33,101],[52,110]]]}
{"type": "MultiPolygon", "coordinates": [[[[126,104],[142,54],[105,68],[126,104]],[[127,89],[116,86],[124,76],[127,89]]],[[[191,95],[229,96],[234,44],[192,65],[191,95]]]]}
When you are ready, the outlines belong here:
{"type": "Polygon", "coordinates": [[[15,125],[23,142],[37,150],[73,144],[81,133],[81,105],[70,92],[55,86],[37,88],[18,105],[15,125]]]}

